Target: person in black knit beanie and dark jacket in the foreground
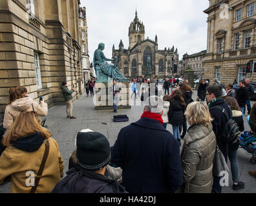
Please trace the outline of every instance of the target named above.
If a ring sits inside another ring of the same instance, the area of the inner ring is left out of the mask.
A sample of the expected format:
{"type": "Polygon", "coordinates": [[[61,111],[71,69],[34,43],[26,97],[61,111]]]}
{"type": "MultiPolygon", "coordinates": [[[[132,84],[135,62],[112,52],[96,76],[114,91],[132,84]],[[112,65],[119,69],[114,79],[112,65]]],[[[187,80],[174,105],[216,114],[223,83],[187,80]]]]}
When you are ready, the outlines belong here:
{"type": "Polygon", "coordinates": [[[111,158],[109,140],[101,133],[80,131],[76,138],[77,164],[67,171],[52,193],[127,193],[105,176],[111,158]]]}

